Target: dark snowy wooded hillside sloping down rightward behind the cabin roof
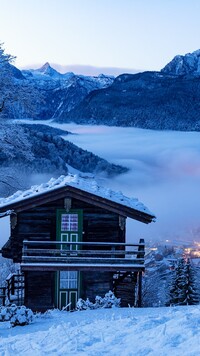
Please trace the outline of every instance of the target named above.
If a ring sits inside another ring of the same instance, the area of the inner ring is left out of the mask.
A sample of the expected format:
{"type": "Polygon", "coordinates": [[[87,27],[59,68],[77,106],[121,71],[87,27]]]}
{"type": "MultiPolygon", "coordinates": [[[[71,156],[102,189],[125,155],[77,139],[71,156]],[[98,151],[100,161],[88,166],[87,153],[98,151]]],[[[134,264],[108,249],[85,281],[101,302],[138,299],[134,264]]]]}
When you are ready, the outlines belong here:
{"type": "Polygon", "coordinates": [[[28,188],[32,184],[29,179],[35,174],[45,174],[43,179],[47,180],[52,176],[67,174],[71,167],[79,172],[104,172],[104,176],[115,176],[128,171],[127,168],[109,163],[60,136],[66,138],[68,134],[68,131],[40,124],[0,125],[0,194],[8,195],[17,189],[28,188]]]}

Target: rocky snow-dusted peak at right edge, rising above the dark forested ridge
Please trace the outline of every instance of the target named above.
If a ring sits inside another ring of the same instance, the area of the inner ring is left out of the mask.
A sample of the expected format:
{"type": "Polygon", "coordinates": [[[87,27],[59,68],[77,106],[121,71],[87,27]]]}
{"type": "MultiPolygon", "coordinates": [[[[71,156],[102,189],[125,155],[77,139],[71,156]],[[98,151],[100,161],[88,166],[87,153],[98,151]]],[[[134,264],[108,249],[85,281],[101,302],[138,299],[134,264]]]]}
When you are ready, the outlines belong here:
{"type": "Polygon", "coordinates": [[[161,72],[175,75],[200,75],[200,49],[184,56],[175,56],[161,72]]]}

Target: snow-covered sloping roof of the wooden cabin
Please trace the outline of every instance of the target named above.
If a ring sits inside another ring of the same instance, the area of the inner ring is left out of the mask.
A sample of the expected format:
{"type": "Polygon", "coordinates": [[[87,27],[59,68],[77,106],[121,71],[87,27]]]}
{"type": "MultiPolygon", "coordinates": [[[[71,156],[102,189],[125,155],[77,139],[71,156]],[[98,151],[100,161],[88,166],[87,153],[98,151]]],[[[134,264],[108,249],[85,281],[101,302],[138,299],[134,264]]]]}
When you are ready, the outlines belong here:
{"type": "Polygon", "coordinates": [[[79,175],[69,174],[67,176],[60,176],[59,178],[51,178],[47,183],[40,185],[34,185],[30,189],[25,191],[17,191],[13,195],[7,198],[0,198],[0,209],[6,209],[6,206],[10,206],[14,203],[24,201],[26,199],[36,197],[45,194],[50,191],[61,189],[62,187],[73,187],[82,190],[87,193],[91,193],[95,196],[107,199],[117,204],[123,205],[127,208],[135,209],[139,212],[148,214],[154,217],[154,214],[144,206],[138,199],[129,198],[123,195],[121,192],[114,192],[113,190],[105,187],[101,187],[92,178],[82,178],[79,175]]]}

